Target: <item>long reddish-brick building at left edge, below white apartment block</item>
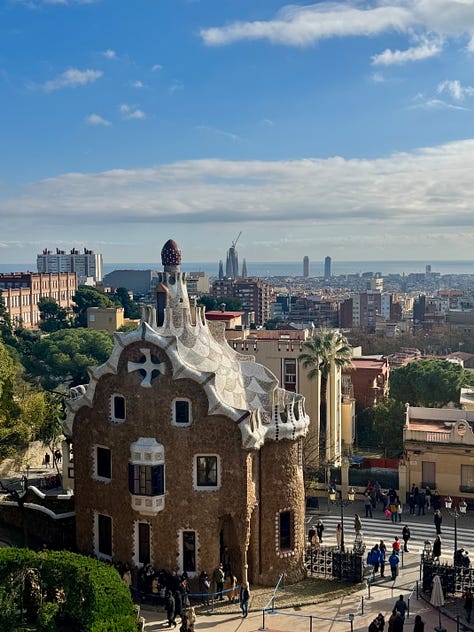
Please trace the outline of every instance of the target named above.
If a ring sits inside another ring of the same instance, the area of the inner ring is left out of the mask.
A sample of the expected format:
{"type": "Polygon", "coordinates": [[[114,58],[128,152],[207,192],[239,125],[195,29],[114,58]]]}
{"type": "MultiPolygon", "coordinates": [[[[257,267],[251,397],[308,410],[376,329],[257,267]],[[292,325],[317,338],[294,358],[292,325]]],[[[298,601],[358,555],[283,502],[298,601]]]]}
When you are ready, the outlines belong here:
{"type": "Polygon", "coordinates": [[[77,291],[77,275],[74,272],[36,274],[12,272],[0,274],[0,292],[11,322],[26,329],[34,329],[40,321],[38,301],[52,298],[60,307],[70,311],[72,297],[77,291]]]}

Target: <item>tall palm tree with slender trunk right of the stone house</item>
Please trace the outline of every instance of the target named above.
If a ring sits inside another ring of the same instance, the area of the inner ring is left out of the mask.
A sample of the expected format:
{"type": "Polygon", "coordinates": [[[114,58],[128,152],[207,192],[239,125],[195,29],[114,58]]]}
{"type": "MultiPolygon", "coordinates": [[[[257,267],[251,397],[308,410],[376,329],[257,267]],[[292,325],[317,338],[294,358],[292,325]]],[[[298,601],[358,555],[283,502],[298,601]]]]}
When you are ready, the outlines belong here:
{"type": "Polygon", "coordinates": [[[324,445],[326,439],[326,387],[331,366],[334,364],[343,370],[351,366],[351,358],[352,349],[337,329],[316,330],[311,339],[303,344],[303,353],[298,357],[299,362],[308,372],[308,378],[316,379],[317,383],[317,401],[320,406],[320,446],[324,445]]]}

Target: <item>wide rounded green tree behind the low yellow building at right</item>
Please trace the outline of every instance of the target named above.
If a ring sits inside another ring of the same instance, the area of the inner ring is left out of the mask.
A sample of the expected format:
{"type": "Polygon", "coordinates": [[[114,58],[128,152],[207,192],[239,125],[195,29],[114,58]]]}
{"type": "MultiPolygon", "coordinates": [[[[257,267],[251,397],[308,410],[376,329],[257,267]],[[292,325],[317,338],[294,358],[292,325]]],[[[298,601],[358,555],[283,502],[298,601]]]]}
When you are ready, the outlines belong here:
{"type": "Polygon", "coordinates": [[[419,360],[390,375],[390,395],[412,406],[442,408],[459,402],[461,386],[473,384],[474,377],[456,362],[419,360]]]}

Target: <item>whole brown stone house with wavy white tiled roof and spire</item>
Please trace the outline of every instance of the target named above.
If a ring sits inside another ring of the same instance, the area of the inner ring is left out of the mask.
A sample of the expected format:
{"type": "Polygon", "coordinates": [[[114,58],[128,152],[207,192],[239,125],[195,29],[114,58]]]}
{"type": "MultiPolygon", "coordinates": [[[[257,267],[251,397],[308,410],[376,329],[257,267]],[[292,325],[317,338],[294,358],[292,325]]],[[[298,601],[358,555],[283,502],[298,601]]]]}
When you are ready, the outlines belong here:
{"type": "Polygon", "coordinates": [[[83,553],[239,579],[305,575],[304,397],[229,346],[194,307],[173,241],[156,307],[117,333],[109,360],[68,402],[64,486],[83,553]]]}

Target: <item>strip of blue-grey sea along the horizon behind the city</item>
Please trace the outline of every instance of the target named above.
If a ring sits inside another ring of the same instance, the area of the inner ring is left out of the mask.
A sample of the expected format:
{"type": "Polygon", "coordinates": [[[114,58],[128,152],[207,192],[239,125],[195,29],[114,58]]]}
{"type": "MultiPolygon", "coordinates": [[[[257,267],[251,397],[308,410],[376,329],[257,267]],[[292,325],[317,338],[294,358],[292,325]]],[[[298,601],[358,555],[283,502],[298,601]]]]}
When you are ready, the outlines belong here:
{"type": "MultiPolygon", "coordinates": [[[[442,275],[474,275],[474,259],[454,260],[387,260],[387,261],[338,261],[331,264],[332,276],[348,274],[364,274],[368,272],[389,274],[420,274],[425,273],[426,266],[431,266],[432,273],[442,275]]],[[[159,262],[111,262],[104,263],[104,276],[113,270],[161,270],[159,262]]],[[[218,262],[186,262],[181,269],[184,272],[205,272],[209,276],[217,277],[218,262]]],[[[0,272],[36,272],[35,263],[0,263],[0,272]]],[[[324,261],[310,261],[309,276],[318,277],[324,274],[324,261]]],[[[247,276],[249,277],[302,277],[302,261],[247,261],[247,276]]]]}

